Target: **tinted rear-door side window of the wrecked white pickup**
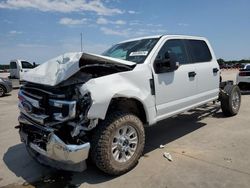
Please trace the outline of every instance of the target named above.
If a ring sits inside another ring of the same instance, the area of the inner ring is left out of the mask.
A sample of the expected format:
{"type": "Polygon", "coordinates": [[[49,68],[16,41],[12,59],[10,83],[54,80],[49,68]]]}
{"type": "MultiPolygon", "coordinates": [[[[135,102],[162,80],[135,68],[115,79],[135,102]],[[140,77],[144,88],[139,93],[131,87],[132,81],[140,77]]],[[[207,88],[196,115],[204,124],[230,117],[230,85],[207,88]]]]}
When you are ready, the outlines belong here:
{"type": "Polygon", "coordinates": [[[192,63],[208,62],[212,60],[212,55],[203,40],[186,40],[188,50],[191,54],[192,63]]]}

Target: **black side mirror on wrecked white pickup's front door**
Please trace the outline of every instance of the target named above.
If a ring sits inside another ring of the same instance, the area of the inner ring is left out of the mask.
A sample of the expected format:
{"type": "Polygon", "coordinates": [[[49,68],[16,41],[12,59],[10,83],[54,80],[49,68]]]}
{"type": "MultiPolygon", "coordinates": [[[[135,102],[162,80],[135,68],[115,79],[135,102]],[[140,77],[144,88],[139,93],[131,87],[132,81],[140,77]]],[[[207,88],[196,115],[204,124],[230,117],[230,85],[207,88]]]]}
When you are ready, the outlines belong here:
{"type": "Polygon", "coordinates": [[[175,54],[166,52],[163,58],[156,59],[154,62],[155,73],[173,72],[179,67],[179,62],[175,54]]]}

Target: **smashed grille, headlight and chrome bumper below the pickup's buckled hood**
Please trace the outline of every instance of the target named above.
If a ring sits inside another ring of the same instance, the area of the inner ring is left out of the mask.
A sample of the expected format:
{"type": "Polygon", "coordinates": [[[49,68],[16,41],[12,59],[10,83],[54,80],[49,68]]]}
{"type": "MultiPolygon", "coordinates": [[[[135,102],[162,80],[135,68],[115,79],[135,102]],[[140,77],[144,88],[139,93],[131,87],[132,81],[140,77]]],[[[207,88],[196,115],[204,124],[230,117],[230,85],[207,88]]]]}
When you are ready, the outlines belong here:
{"type": "MultiPolygon", "coordinates": [[[[79,96],[72,88],[45,90],[26,84],[19,91],[19,134],[29,153],[57,169],[83,171],[90,142],[84,115],[91,104],[88,93],[79,96]]],[[[96,122],[97,123],[97,122],[96,122]]]]}

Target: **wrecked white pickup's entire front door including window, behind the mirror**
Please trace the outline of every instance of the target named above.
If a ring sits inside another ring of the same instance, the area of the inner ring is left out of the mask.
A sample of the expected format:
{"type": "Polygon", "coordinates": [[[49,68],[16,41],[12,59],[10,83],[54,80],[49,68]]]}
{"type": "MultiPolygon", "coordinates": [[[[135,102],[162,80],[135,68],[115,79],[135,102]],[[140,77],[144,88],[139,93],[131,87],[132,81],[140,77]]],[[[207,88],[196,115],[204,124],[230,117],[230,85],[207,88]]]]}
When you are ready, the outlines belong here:
{"type": "Polygon", "coordinates": [[[196,69],[189,63],[183,40],[170,39],[160,49],[157,58],[166,52],[174,54],[179,68],[173,72],[155,74],[157,119],[161,120],[194,104],[197,91],[196,69]]]}

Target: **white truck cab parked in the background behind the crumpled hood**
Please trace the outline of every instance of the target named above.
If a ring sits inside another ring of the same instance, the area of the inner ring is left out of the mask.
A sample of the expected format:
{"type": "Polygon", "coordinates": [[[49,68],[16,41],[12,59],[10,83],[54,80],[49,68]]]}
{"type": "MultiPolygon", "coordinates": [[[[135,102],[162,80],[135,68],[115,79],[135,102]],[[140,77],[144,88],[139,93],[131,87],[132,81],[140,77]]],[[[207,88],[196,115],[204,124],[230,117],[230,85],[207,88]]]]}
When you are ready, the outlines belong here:
{"type": "Polygon", "coordinates": [[[22,80],[22,75],[33,69],[34,66],[26,60],[15,59],[10,61],[10,78],[22,80]]]}

